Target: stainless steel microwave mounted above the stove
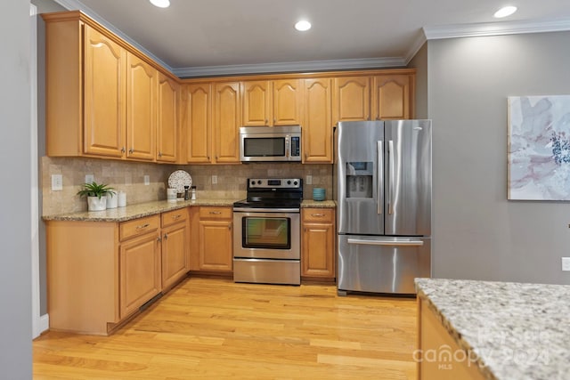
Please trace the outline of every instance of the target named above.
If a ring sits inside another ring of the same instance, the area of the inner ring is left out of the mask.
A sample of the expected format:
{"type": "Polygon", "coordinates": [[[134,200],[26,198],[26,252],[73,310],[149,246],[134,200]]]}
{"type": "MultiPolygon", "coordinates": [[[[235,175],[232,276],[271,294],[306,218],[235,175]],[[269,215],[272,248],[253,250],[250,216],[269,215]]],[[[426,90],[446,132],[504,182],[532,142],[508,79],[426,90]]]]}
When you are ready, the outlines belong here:
{"type": "Polygon", "coordinates": [[[244,162],[300,161],[301,125],[240,127],[244,162]]]}

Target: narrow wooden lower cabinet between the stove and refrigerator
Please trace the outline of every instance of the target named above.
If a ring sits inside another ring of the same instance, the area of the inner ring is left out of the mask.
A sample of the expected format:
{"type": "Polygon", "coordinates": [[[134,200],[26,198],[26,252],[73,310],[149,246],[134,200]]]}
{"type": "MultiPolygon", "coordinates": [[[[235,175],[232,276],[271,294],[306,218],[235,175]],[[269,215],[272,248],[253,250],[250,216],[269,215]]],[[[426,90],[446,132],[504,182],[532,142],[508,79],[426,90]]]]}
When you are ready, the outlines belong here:
{"type": "Polygon", "coordinates": [[[301,209],[301,278],[332,280],[336,277],[335,210],[301,209]]]}

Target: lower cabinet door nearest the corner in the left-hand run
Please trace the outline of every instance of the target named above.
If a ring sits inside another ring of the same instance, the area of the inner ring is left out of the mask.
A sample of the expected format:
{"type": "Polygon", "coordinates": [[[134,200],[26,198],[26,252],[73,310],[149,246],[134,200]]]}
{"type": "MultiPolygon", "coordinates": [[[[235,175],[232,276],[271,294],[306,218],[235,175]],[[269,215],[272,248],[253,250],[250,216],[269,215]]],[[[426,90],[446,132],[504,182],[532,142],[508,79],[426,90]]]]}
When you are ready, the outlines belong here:
{"type": "Polygon", "coordinates": [[[189,230],[186,222],[162,230],[162,288],[182,279],[188,267],[189,230]]]}

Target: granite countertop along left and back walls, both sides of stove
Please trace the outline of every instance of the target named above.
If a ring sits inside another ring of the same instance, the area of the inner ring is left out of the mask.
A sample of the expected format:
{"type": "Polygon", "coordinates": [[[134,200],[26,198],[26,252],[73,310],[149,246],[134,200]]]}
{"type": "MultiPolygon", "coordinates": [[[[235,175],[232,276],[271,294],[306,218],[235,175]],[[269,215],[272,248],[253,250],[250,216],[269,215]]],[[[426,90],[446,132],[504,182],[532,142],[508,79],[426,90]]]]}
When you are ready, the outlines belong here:
{"type": "MultiPolygon", "coordinates": [[[[240,199],[208,199],[199,198],[196,200],[178,200],[168,202],[167,200],[157,200],[152,202],[126,205],[125,207],[110,208],[104,211],[80,211],[69,214],[44,215],[45,221],[79,221],[79,222],[126,222],[132,219],[142,218],[153,214],[160,214],[166,211],[175,210],[187,206],[233,206],[233,202],[240,199]]],[[[314,201],[304,200],[301,207],[336,207],[332,200],[314,201]]]]}

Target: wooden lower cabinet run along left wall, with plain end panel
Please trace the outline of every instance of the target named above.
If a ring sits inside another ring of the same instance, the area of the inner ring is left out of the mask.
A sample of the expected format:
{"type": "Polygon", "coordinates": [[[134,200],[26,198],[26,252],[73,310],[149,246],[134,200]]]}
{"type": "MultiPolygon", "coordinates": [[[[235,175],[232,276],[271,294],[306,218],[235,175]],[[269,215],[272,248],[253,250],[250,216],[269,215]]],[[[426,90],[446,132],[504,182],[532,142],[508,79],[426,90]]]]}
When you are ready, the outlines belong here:
{"type": "Polygon", "coordinates": [[[188,271],[186,208],[127,222],[45,226],[51,330],[109,335],[188,271]]]}

